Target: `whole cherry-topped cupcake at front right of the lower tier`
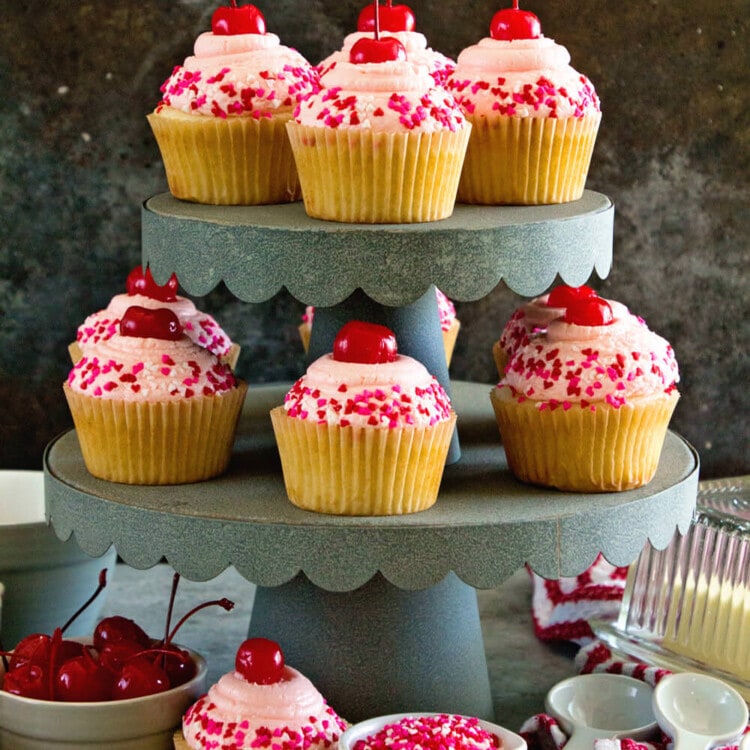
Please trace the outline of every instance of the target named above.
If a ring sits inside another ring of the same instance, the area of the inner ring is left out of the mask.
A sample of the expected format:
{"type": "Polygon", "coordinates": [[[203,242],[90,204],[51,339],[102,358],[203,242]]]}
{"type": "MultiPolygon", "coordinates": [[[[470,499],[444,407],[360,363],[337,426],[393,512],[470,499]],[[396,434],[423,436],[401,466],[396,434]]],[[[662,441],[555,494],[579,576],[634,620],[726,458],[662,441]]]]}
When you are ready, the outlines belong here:
{"type": "Polygon", "coordinates": [[[611,492],[653,478],[679,373],[669,343],[626,310],[570,303],[508,362],[490,398],[521,481],[611,492]]]}

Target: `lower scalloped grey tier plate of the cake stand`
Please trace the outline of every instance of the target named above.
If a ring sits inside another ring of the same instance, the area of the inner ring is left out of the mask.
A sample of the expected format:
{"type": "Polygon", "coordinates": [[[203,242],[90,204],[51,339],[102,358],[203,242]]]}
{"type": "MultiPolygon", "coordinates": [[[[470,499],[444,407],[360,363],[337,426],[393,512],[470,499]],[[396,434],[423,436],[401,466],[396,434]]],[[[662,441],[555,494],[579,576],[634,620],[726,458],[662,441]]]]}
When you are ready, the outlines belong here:
{"type": "Polygon", "coordinates": [[[548,578],[578,575],[599,551],[626,565],[647,538],[663,548],[676,527],[687,529],[697,462],[674,434],[645,487],[595,495],[533,488],[507,469],[485,388],[454,383],[463,455],[446,468],[437,503],[420,513],[328,516],[292,505],[268,417],[284,390],[275,386],[250,389],[233,464],[209,483],[133,487],[94,479],[75,432],[66,434],[47,456],[47,513],[60,538],[75,533],[92,555],[114,543],[137,568],[164,556],[186,577],[206,580],[234,565],[263,586],[301,570],[330,591],[351,591],[378,571],[411,590],[450,571],[490,588],[526,563],[548,578]]]}

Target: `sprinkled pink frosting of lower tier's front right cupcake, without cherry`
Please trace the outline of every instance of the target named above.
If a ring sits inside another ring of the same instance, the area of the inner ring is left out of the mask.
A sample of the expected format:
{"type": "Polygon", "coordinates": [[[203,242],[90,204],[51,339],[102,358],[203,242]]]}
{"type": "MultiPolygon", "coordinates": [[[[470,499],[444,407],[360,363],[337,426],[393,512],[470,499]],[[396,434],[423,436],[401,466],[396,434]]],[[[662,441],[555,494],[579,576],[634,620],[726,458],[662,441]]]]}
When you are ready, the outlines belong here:
{"type": "Polygon", "coordinates": [[[550,321],[515,351],[498,387],[540,408],[619,408],[630,398],[670,393],[679,381],[671,345],[623,310],[615,307],[614,321],[604,326],[550,321]]]}

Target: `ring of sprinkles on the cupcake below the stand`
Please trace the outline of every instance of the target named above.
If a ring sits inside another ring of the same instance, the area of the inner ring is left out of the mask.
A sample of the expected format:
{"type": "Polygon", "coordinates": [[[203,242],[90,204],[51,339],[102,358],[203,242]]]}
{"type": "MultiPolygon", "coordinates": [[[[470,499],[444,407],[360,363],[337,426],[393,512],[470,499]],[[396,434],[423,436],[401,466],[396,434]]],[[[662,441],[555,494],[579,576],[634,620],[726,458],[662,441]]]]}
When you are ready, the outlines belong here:
{"type": "Polygon", "coordinates": [[[191,726],[196,740],[206,750],[324,750],[346,729],[346,723],[329,706],[326,706],[326,714],[322,719],[310,716],[308,723],[298,728],[256,728],[248,719],[214,718],[219,716],[216,704],[204,695],[188,709],[185,725],[191,726]]]}

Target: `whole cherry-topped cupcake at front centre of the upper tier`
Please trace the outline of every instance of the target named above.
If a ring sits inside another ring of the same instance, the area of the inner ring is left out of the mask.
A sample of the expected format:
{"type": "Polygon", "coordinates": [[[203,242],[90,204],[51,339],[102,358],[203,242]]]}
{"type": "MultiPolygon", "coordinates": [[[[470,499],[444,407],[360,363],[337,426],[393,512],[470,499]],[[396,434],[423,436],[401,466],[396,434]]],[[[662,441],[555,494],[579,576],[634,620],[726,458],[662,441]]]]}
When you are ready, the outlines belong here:
{"type": "Polygon", "coordinates": [[[394,37],[363,37],[287,124],[309,216],[367,224],[453,213],[468,125],[394,37]]]}

